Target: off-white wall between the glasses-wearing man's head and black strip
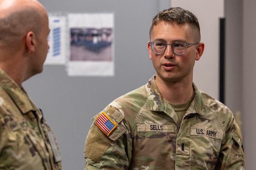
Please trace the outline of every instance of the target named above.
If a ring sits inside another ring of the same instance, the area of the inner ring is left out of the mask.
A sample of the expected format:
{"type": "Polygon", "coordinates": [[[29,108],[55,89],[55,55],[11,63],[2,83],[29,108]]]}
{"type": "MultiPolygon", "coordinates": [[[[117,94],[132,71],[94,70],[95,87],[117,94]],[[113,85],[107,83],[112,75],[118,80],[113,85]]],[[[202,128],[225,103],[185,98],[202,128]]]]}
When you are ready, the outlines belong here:
{"type": "Polygon", "coordinates": [[[195,62],[196,86],[219,100],[219,18],[224,17],[224,0],[171,0],[172,7],[182,7],[199,20],[204,54],[195,62]]]}

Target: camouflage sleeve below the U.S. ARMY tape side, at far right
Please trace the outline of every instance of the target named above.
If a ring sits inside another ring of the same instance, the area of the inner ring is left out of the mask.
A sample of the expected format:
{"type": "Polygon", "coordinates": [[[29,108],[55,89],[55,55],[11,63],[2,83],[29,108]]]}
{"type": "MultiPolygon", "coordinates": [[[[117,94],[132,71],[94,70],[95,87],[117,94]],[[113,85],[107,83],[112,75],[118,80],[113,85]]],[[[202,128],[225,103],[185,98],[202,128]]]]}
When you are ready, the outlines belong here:
{"type": "Polygon", "coordinates": [[[245,168],[245,154],[242,147],[242,135],[235,119],[225,134],[225,138],[221,144],[218,161],[215,169],[238,169],[245,168]]]}

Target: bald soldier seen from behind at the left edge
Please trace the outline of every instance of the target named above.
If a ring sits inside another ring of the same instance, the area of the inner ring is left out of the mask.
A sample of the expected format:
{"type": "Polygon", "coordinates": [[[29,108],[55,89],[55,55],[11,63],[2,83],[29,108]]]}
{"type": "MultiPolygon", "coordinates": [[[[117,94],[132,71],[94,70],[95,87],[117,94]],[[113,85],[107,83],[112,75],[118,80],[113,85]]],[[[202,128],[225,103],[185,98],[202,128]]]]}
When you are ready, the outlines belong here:
{"type": "Polygon", "coordinates": [[[54,134],[21,86],[43,71],[49,32],[38,1],[0,0],[0,169],[61,169],[54,134]]]}

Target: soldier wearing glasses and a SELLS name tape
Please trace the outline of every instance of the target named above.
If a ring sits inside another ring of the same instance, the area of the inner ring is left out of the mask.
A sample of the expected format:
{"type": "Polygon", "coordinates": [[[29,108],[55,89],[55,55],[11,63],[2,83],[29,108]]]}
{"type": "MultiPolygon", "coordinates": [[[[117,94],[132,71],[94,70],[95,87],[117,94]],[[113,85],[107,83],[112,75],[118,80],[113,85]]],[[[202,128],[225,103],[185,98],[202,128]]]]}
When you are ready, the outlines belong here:
{"type": "Polygon", "coordinates": [[[204,51],[195,15],[178,7],[159,12],[148,51],[156,75],[92,118],[85,169],[244,169],[233,114],[192,81],[204,51]]]}

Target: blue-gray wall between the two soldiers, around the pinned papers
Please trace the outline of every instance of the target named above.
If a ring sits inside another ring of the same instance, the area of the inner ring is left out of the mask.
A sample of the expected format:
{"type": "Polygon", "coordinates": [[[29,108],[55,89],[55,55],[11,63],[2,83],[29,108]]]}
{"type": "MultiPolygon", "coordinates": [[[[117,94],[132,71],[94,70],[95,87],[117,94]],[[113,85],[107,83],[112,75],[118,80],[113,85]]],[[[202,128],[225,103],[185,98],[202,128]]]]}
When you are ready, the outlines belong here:
{"type": "Polygon", "coordinates": [[[151,19],[169,7],[168,0],[39,0],[48,12],[115,13],[115,76],[68,77],[65,66],[44,71],[23,86],[43,109],[61,149],[63,169],[83,169],[84,142],[91,118],[115,98],[146,84],[155,74],[148,57],[151,19]]]}

